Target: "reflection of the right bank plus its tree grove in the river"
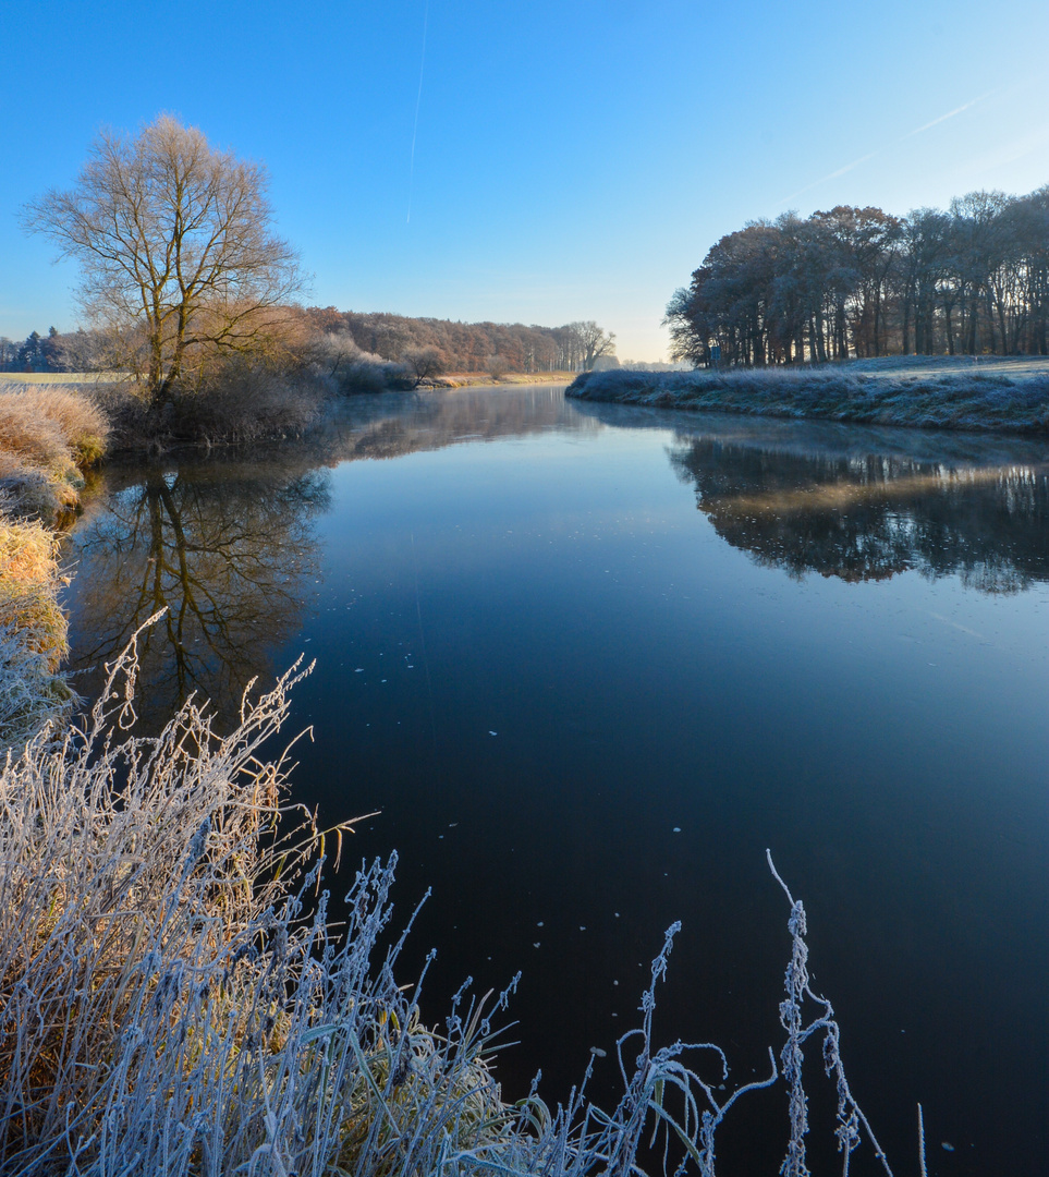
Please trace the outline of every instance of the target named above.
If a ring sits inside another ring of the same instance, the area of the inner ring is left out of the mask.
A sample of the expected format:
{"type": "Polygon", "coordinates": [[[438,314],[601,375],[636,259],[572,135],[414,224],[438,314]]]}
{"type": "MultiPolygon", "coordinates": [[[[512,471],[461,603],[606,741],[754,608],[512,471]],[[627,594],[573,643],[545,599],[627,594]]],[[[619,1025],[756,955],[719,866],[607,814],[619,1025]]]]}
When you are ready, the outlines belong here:
{"type": "Polygon", "coordinates": [[[988,593],[1049,580],[1044,441],[575,403],[673,430],[670,463],[719,536],[793,577],[958,576],[988,593]]]}

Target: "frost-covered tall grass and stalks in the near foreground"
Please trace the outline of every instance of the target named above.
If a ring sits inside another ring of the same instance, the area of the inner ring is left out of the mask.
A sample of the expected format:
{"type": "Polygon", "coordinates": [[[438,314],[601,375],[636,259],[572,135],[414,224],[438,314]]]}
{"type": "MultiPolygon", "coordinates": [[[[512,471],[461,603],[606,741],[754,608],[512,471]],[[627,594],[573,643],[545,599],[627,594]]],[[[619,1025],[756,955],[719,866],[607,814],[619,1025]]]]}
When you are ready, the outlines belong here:
{"type": "MultiPolygon", "coordinates": [[[[133,645],[82,730],[42,734],[0,773],[5,1177],[627,1177],[653,1138],[666,1163],[663,1133],[680,1171],[713,1177],[723,1118],[780,1069],[769,1050],[768,1077],[733,1088],[717,1046],[654,1046],[676,925],[641,1026],[617,1044],[617,1105],[590,1102],[589,1072],[564,1106],[534,1090],[507,1103],[489,1057],[509,991],[488,1012],[460,995],[432,1030],[421,979],[399,984],[406,933],[382,947],[395,859],[362,865],[348,923],[328,923],[323,853],[348,826],[294,822],[288,756],[265,754],[298,670],[246,696],[225,737],[192,700],[159,737],[135,736],[134,674],[133,645]]],[[[844,1079],[834,1011],[809,985],[804,910],[788,899],[782,1171],[808,1171],[813,1038],[836,1083],[847,1171],[861,1136],[881,1150],[844,1079]]]]}

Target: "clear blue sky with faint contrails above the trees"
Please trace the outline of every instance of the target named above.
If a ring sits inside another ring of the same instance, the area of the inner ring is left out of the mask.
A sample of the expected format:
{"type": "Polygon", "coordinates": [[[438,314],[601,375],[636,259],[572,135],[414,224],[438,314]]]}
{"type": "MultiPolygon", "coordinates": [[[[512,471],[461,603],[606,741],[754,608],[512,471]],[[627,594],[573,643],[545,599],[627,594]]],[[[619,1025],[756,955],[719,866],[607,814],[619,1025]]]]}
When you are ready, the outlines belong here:
{"type": "Polygon", "coordinates": [[[659,359],[747,220],[1049,182],[1047,44],[1045,0],[5,0],[0,334],[76,322],[21,205],[169,111],[266,162],[308,301],[659,359]]]}

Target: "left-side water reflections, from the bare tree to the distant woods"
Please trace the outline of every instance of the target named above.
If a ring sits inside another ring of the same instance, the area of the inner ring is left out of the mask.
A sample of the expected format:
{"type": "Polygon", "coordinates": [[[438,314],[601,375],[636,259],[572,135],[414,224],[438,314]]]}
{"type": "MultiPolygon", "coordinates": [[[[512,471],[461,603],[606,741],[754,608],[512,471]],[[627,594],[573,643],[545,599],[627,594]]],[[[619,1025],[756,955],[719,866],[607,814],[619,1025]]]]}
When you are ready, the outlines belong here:
{"type": "Polygon", "coordinates": [[[572,428],[601,426],[556,387],[360,397],[303,443],[109,468],[66,551],[78,689],[95,698],[105,664],[166,609],[140,643],[143,723],[162,724],[193,692],[232,718],[320,580],[313,521],[329,505],[327,467],[572,428]]]}

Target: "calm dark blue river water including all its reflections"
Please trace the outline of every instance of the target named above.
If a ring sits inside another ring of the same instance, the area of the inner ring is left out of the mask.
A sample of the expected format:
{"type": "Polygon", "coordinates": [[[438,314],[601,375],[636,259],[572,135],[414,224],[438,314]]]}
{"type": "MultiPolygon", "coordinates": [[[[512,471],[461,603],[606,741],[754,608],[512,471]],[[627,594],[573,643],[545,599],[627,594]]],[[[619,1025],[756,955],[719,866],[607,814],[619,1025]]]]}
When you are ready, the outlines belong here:
{"type": "MultiPolygon", "coordinates": [[[[75,663],[166,604],[158,724],[316,658],[296,796],[381,810],[348,858],[397,849],[405,917],[433,887],[403,960],[439,947],[432,1022],[466,976],[522,972],[508,1095],[541,1066],[562,1099],[596,1046],[614,1097],[674,919],[660,1042],[720,1043],[730,1085],[764,1070],[789,955],[770,847],[895,1171],[921,1102],[930,1173],[1041,1173],[1047,459],[550,390],[361,400],[323,444],[111,471],[71,540],[75,663]]],[[[722,1131],[722,1171],[776,1172],[782,1089],[722,1131]]]]}

